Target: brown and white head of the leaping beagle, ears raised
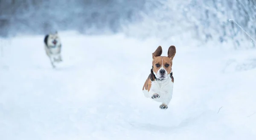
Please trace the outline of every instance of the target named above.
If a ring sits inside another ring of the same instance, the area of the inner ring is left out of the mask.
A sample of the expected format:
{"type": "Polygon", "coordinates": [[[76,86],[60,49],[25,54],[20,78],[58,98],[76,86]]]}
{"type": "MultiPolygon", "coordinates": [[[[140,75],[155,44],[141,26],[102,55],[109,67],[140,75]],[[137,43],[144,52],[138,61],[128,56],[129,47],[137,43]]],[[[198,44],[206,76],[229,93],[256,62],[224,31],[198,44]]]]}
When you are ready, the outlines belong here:
{"type": "Polygon", "coordinates": [[[176,54],[175,46],[170,46],[168,49],[168,56],[161,57],[162,47],[158,46],[153,56],[153,72],[158,79],[166,79],[172,72],[172,60],[176,54]]]}

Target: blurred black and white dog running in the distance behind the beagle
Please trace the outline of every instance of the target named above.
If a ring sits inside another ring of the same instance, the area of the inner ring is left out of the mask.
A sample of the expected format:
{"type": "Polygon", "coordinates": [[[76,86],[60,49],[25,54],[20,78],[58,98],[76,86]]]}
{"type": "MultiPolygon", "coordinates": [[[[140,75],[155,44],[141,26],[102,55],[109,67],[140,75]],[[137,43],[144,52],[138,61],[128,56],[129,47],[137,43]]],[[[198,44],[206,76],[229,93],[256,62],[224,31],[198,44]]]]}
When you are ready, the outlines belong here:
{"type": "Polygon", "coordinates": [[[55,68],[55,62],[61,62],[61,40],[56,31],[54,34],[50,33],[44,37],[44,49],[49,57],[52,67],[55,68]]]}

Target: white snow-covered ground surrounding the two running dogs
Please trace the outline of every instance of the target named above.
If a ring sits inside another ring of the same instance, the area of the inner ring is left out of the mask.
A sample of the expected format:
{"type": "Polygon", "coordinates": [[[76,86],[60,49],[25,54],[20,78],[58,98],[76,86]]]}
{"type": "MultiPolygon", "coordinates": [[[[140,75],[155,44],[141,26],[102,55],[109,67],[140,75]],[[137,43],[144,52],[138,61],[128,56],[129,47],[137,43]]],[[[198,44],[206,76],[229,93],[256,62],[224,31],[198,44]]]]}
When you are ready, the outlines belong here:
{"type": "Polygon", "coordinates": [[[256,140],[256,50],[60,34],[52,69],[44,36],[0,39],[0,140],[256,140]],[[175,45],[167,110],[142,87],[152,52],[175,45]]]}

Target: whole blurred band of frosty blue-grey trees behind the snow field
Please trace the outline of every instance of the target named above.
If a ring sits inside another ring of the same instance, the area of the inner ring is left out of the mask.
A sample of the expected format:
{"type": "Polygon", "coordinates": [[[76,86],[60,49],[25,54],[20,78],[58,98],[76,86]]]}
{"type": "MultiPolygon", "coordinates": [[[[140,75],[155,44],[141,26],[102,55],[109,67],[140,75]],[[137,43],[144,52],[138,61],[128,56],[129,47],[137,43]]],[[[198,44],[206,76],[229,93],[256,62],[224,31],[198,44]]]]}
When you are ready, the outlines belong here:
{"type": "Polygon", "coordinates": [[[55,30],[164,39],[189,33],[202,43],[231,40],[239,47],[252,39],[235,22],[256,39],[256,0],[0,0],[1,37],[55,30]]]}

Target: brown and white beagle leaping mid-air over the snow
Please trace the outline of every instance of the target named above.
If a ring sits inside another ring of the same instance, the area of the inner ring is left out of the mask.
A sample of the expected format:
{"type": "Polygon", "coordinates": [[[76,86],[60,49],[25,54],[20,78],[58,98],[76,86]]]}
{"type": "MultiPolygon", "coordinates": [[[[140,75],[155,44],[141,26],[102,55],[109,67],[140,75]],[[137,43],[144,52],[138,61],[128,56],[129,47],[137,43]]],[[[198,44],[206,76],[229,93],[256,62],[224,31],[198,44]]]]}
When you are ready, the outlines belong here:
{"type": "Polygon", "coordinates": [[[176,54],[175,46],[170,46],[168,56],[161,56],[162,47],[159,46],[152,54],[151,73],[143,86],[145,97],[161,102],[160,109],[167,109],[172,100],[174,78],[172,74],[172,60],[176,54]]]}

